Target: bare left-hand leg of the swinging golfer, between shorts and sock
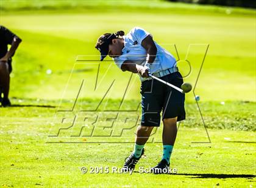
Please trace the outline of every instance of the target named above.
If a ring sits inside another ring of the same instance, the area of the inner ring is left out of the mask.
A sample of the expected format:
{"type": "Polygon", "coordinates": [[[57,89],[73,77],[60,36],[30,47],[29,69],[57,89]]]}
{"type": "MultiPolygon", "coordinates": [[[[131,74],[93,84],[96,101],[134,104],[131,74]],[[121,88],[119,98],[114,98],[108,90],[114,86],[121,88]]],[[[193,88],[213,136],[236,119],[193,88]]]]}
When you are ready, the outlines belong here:
{"type": "Polygon", "coordinates": [[[138,145],[146,144],[153,128],[154,127],[138,126],[135,143],[138,145]]]}

